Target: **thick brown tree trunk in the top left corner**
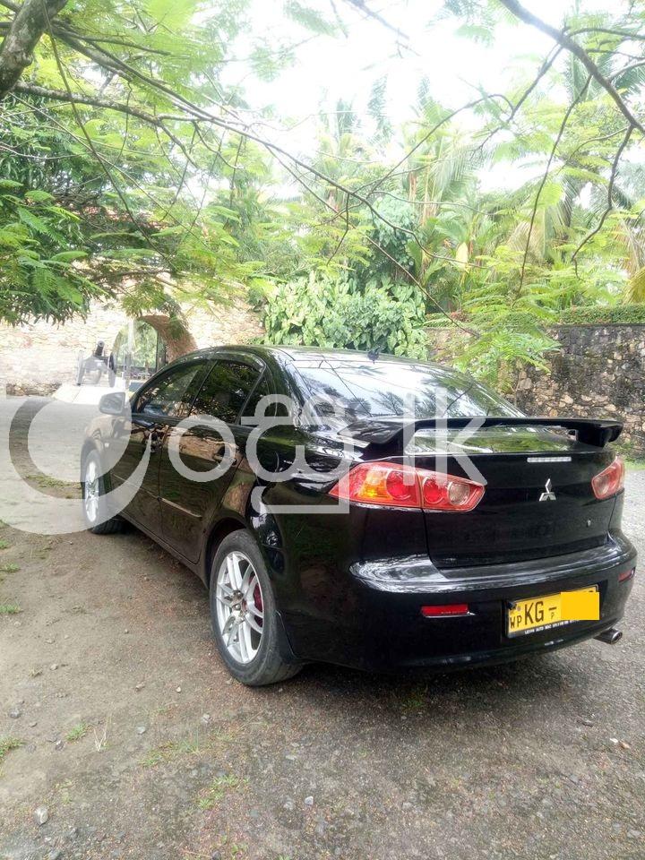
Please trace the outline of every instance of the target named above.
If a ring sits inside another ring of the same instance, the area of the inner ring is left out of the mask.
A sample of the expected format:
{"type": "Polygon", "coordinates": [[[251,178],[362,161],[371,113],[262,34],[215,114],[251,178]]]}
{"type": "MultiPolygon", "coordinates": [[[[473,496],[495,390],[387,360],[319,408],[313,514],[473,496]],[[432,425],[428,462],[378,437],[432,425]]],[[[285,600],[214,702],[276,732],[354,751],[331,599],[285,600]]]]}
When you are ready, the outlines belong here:
{"type": "Polygon", "coordinates": [[[40,37],[66,3],[67,0],[24,0],[15,13],[0,47],[0,99],[13,90],[31,64],[40,37]]]}

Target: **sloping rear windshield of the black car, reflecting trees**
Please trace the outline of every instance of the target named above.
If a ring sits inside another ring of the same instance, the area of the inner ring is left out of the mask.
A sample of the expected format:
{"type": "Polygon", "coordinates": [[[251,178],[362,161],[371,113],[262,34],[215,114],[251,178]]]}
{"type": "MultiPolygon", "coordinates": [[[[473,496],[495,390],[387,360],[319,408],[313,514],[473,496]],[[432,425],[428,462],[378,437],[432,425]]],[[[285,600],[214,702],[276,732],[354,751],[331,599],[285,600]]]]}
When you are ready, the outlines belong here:
{"type": "MultiPolygon", "coordinates": [[[[348,422],[365,417],[520,416],[507,400],[456,371],[424,364],[323,359],[296,361],[299,387],[313,413],[348,422]]],[[[334,422],[335,423],[335,422],[334,422]]]]}

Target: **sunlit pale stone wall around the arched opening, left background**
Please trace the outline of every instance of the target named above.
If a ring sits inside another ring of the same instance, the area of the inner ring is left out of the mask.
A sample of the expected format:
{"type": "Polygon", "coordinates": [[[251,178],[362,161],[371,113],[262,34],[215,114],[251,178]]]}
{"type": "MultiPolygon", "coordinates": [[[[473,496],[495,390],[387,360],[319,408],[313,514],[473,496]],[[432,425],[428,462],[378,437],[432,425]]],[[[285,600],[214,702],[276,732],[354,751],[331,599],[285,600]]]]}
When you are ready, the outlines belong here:
{"type": "MultiPolygon", "coordinates": [[[[242,301],[208,313],[185,307],[185,323],[198,348],[246,343],[262,333],[257,315],[242,301]]],[[[0,390],[10,394],[50,394],[73,383],[79,351],[86,356],[104,340],[107,351],[127,324],[117,305],[95,304],[83,320],[64,325],[40,321],[15,328],[0,324],[0,390]]]]}

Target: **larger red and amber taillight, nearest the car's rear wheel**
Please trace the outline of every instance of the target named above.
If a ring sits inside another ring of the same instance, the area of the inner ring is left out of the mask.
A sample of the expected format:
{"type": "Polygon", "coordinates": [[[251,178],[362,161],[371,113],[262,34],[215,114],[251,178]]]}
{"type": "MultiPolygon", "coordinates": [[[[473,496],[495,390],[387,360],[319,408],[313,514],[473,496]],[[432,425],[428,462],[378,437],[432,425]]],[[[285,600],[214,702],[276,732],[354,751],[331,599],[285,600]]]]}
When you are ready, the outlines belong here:
{"type": "Polygon", "coordinates": [[[363,504],[458,512],[472,511],[484,490],[483,484],[466,477],[378,461],[355,466],[332,487],[330,495],[363,504]]]}

